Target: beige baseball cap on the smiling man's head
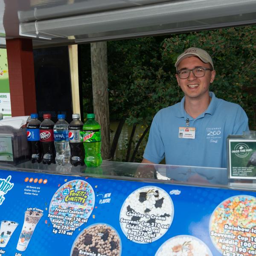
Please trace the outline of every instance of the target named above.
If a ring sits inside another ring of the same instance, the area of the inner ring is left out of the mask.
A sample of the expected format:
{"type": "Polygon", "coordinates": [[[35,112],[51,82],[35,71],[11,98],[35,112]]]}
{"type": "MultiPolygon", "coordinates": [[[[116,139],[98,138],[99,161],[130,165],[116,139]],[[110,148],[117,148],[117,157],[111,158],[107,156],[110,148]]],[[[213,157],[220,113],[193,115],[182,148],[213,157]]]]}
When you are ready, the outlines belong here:
{"type": "Polygon", "coordinates": [[[182,61],[185,58],[191,57],[191,56],[196,56],[196,57],[200,58],[201,61],[203,61],[204,63],[211,64],[212,69],[214,69],[213,63],[212,63],[212,58],[205,50],[200,49],[200,48],[190,47],[189,49],[186,49],[185,52],[181,53],[178,56],[177,61],[175,63],[176,70],[177,70],[178,64],[180,64],[180,61],[182,61]]]}

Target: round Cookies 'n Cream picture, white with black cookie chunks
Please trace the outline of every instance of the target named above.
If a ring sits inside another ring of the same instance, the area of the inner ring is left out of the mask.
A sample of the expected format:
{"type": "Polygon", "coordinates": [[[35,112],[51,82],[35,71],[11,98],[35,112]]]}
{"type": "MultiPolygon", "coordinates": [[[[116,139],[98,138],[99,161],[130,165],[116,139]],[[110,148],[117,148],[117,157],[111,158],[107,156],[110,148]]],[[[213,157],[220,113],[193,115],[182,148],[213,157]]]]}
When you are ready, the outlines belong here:
{"type": "Polygon", "coordinates": [[[174,207],[166,191],[144,186],[126,198],[119,221],[130,241],[147,244],[163,236],[172,224],[174,207]]]}

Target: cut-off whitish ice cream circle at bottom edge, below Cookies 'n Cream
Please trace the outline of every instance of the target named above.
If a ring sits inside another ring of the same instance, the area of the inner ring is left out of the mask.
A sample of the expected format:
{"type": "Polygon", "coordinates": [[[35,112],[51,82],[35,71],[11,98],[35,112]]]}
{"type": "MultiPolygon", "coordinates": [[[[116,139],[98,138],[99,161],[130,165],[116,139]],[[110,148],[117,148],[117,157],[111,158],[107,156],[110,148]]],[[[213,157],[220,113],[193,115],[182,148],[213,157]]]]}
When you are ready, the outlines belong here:
{"type": "Polygon", "coordinates": [[[164,242],[155,256],[212,256],[207,245],[195,236],[174,236],[164,242]]]}

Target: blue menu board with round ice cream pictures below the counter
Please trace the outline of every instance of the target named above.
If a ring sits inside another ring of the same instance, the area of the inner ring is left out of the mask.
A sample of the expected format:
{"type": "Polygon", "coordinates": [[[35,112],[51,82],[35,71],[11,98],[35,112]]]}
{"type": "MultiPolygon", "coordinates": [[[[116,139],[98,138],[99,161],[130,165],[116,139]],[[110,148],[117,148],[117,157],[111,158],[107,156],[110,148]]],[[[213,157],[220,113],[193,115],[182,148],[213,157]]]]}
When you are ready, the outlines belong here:
{"type": "Polygon", "coordinates": [[[256,255],[256,192],[0,170],[0,256],[256,255]]]}

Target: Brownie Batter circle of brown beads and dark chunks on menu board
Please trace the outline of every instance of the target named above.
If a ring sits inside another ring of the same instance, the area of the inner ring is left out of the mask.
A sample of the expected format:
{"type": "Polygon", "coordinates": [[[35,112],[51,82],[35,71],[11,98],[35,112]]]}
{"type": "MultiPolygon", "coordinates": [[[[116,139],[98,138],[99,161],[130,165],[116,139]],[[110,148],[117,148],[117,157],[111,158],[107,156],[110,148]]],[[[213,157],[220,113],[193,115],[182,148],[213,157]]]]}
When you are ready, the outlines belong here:
{"type": "Polygon", "coordinates": [[[108,224],[96,223],[84,229],[73,243],[70,256],[121,256],[117,231],[108,224]]]}

